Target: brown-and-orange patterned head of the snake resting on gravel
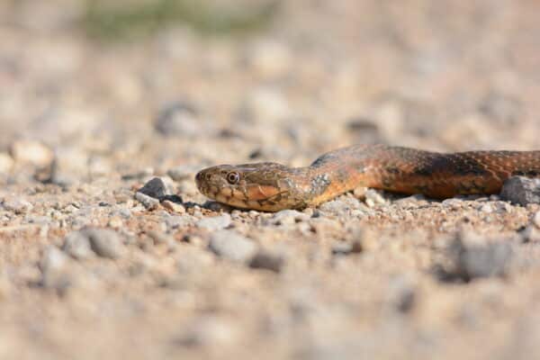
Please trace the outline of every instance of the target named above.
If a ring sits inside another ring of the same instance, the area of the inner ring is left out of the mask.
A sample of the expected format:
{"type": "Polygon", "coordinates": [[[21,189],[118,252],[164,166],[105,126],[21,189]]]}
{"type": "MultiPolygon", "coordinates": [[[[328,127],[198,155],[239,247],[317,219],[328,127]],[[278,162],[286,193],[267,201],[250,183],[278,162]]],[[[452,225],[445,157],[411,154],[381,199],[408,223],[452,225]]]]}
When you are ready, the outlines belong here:
{"type": "Polygon", "coordinates": [[[260,211],[279,211],[291,207],[293,187],[288,167],[275,163],[219,165],[202,169],[195,175],[197,188],[217,202],[260,211]]]}

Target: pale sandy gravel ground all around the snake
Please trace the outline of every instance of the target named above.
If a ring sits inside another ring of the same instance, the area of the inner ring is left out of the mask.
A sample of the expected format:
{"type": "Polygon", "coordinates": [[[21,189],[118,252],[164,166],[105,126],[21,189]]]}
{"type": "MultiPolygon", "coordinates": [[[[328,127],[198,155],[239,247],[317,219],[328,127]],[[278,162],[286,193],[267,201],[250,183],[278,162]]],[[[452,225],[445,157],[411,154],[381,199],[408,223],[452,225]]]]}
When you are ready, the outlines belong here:
{"type": "Polygon", "coordinates": [[[539,4],[401,3],[109,42],[78,2],[2,2],[0,358],[534,358],[538,205],[368,190],[272,214],[193,183],[354,143],[540,148],[539,4]]]}

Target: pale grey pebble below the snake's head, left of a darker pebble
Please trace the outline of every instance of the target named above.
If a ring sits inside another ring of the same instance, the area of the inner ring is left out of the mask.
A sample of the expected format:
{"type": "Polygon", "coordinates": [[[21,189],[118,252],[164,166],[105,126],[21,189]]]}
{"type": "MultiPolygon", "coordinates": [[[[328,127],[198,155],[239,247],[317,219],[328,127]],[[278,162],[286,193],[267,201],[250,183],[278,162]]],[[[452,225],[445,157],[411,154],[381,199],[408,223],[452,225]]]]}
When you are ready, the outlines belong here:
{"type": "Polygon", "coordinates": [[[208,247],[219,257],[245,262],[257,252],[257,244],[236,231],[220,230],[211,235],[208,247]]]}

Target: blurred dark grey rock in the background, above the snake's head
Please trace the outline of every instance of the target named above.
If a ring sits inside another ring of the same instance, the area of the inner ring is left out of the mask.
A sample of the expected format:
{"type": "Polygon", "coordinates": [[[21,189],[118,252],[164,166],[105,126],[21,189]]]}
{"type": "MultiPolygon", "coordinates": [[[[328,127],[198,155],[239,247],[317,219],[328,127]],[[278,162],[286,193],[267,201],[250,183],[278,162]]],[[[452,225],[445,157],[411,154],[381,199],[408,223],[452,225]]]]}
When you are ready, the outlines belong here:
{"type": "Polygon", "coordinates": [[[202,132],[201,119],[191,104],[175,102],[157,115],[155,129],[165,136],[194,136],[202,132]]]}

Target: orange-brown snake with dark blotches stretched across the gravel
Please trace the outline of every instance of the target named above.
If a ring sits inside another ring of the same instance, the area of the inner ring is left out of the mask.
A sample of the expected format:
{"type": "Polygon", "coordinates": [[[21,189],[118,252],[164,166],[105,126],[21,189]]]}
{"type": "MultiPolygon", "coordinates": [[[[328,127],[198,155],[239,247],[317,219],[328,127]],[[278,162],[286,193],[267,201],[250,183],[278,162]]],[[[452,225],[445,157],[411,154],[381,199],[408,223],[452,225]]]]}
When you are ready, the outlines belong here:
{"type": "Polygon", "coordinates": [[[540,150],[442,153],[383,144],[338,148],[310,166],[273,162],[218,165],[195,175],[216,202],[256,211],[317,207],[357,187],[446,199],[500,193],[514,175],[540,176],[540,150]]]}

